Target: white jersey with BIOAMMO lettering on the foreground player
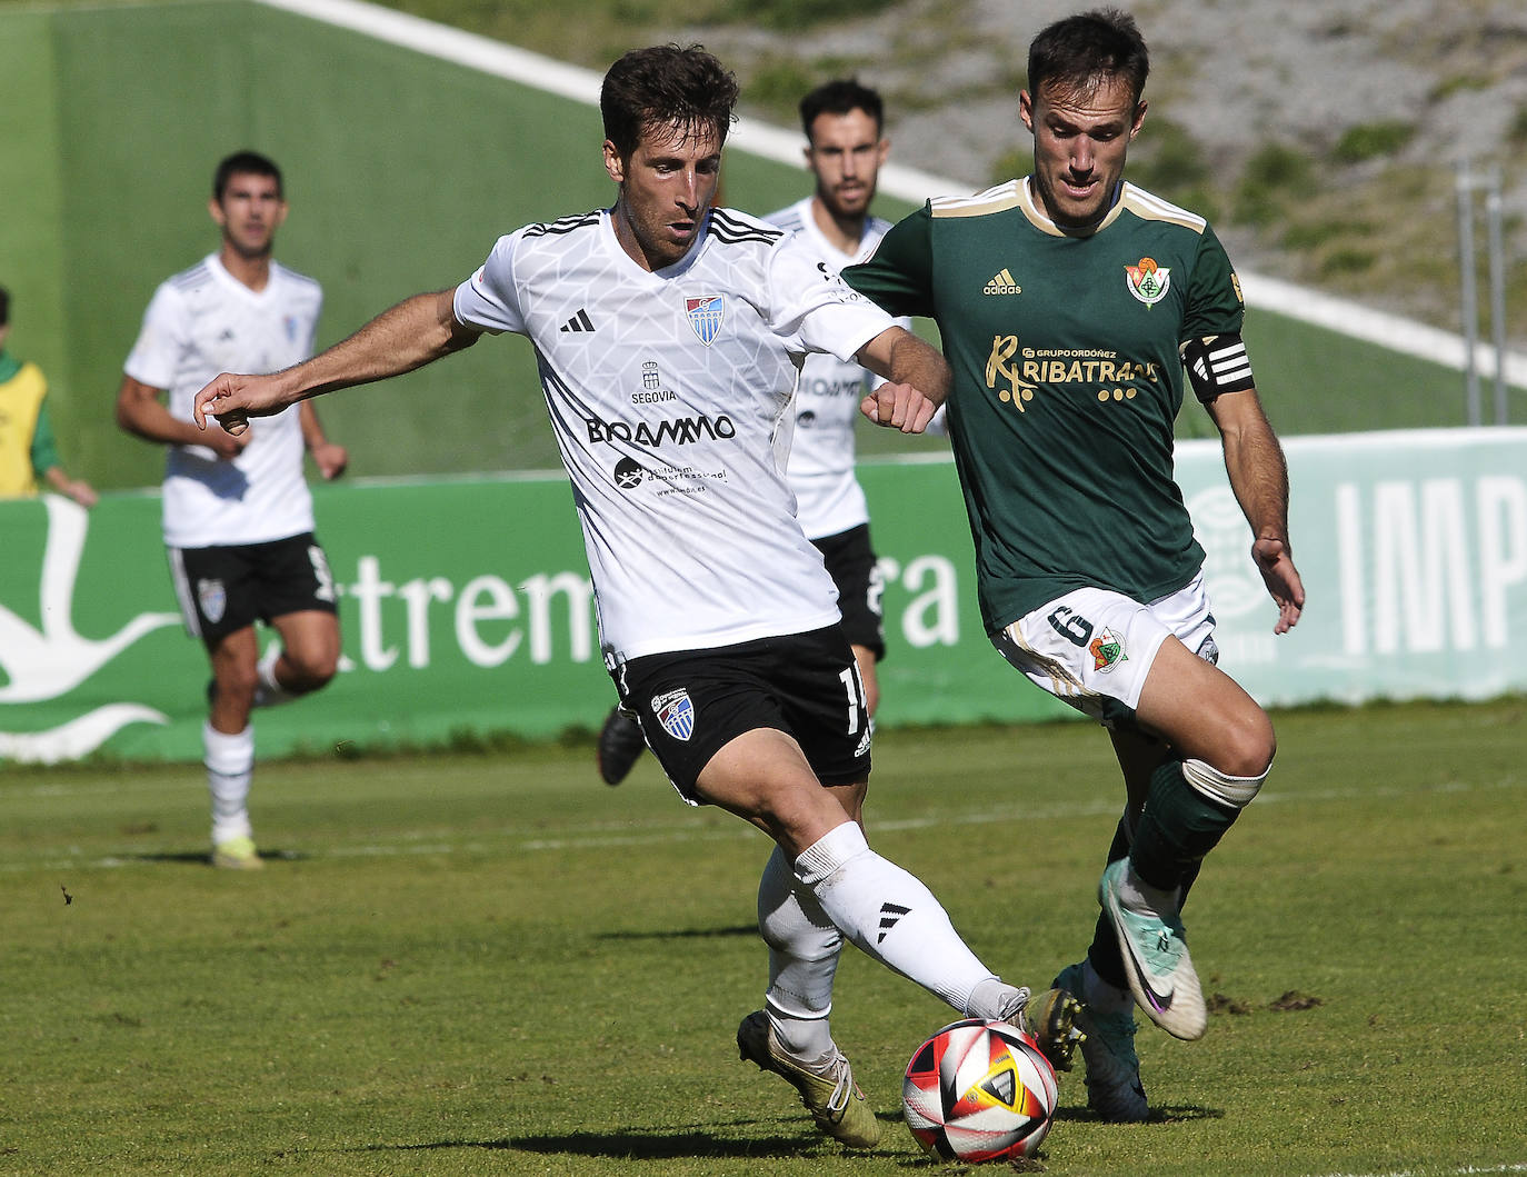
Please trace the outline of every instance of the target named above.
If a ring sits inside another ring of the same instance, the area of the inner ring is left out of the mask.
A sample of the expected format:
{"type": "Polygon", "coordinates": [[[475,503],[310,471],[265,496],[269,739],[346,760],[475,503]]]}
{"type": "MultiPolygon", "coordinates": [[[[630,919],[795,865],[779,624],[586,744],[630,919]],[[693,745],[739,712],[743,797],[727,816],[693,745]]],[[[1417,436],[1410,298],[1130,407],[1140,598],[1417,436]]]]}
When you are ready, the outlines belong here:
{"type": "Polygon", "coordinates": [[[647,272],[609,211],[502,237],[457,318],[536,347],[614,663],[838,620],[785,485],[800,359],[892,319],[764,221],[713,209],[647,272]]]}

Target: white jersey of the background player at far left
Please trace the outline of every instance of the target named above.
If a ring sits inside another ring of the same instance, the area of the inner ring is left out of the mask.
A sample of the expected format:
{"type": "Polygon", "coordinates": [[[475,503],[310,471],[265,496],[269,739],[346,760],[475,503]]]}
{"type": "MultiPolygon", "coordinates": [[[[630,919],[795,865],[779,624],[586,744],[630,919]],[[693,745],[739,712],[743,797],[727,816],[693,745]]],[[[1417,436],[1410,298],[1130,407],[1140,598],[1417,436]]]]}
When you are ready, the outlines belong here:
{"type": "MultiPolygon", "coordinates": [[[[257,293],[212,253],[154,292],[122,369],[166,389],[171,415],[189,421],[195,394],[218,372],[273,372],[312,356],[322,305],[312,278],[272,261],[257,293]]],[[[298,408],[257,418],[249,430],[253,440],[232,461],[206,446],[168,447],[166,545],[264,543],[313,530],[298,408]]]]}

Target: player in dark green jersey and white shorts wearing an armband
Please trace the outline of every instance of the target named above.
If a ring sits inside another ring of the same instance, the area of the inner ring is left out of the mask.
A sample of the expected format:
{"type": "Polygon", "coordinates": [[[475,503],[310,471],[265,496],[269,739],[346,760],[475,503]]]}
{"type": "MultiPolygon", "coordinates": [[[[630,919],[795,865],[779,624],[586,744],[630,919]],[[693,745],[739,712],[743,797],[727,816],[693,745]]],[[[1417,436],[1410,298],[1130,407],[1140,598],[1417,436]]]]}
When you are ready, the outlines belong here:
{"type": "Polygon", "coordinates": [[[1235,273],[1202,217],[1124,182],[1147,73],[1127,14],[1046,27],[1019,96],[1032,173],[928,202],[844,270],[892,314],[938,321],[986,630],[1109,728],[1124,772],[1102,913],[1057,982],[1087,1001],[1089,1102],[1113,1121],[1148,1114],[1135,1004],[1179,1038],[1206,1027],[1182,899],[1275,751],[1266,713],[1214,664],[1203,550],[1173,481],[1185,369],[1220,430],[1275,632],[1304,605],[1235,273]]]}

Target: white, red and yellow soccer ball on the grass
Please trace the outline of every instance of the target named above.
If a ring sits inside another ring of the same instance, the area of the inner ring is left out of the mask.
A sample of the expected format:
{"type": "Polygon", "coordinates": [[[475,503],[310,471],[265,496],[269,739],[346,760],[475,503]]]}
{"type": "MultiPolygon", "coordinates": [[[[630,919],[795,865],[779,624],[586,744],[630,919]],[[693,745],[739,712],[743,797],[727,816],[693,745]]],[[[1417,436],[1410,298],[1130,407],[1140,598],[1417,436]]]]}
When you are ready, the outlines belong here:
{"type": "Polygon", "coordinates": [[[1055,1114],[1055,1070],[1029,1035],[1005,1021],[956,1021],[912,1055],[901,1111],[941,1160],[1034,1156],[1055,1114]]]}

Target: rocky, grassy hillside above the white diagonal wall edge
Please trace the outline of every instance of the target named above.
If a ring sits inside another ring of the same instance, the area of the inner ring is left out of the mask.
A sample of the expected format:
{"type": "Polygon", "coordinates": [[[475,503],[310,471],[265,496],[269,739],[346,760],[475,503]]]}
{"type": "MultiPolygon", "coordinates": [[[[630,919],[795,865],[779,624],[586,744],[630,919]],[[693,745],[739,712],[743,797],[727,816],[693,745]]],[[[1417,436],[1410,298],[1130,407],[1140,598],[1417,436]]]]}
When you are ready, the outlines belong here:
{"type": "MultiPolygon", "coordinates": [[[[811,84],[857,73],[887,96],[893,157],[982,188],[1023,171],[1029,38],[1070,0],[399,0],[399,8],[594,69],[701,41],[747,113],[783,125],[811,84]],[[745,18],[736,14],[745,11],[745,18]]],[[[1527,5],[1519,0],[1141,0],[1150,114],[1130,176],[1206,212],[1249,270],[1458,330],[1466,160],[1498,169],[1507,328],[1527,343],[1527,5]]],[[[1483,247],[1483,214],[1478,238],[1483,247]]],[[[1483,281],[1483,267],[1481,267],[1483,281]]],[[[1487,301],[1481,298],[1481,304],[1487,301]]],[[[1486,327],[1486,331],[1489,328],[1486,327]]]]}

